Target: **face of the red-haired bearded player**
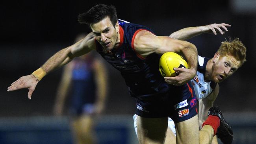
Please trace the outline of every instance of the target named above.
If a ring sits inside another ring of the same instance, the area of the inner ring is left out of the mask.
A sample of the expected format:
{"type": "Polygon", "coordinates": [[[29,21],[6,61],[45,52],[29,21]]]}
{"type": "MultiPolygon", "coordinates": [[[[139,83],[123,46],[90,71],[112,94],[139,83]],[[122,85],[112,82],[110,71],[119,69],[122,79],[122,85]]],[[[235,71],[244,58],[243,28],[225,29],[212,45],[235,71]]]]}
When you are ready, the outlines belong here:
{"type": "Polygon", "coordinates": [[[219,57],[215,63],[213,63],[211,79],[217,83],[223,81],[236,72],[240,63],[240,61],[237,61],[230,55],[219,57]]]}

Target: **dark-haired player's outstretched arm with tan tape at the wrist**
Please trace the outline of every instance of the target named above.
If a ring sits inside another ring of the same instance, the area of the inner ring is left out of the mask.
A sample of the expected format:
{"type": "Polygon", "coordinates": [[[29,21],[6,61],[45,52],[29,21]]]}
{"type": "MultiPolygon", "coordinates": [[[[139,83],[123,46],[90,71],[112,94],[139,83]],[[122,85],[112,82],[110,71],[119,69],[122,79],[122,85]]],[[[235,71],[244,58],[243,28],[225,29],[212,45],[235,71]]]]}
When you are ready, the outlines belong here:
{"type": "Polygon", "coordinates": [[[69,63],[74,57],[87,54],[95,49],[95,41],[93,33],[89,33],[84,39],[76,42],[72,46],[60,50],[54,54],[46,63],[38,70],[28,76],[22,76],[13,82],[7,91],[28,88],[28,98],[31,99],[37,83],[49,72],[69,63]]]}

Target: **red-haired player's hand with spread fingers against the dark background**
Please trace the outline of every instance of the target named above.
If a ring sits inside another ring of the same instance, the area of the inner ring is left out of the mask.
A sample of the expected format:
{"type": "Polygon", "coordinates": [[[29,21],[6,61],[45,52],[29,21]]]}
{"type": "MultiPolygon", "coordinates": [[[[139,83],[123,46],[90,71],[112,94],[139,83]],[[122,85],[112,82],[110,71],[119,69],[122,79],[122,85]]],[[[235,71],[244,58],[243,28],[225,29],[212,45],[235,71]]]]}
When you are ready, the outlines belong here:
{"type": "Polygon", "coordinates": [[[213,33],[214,35],[217,35],[217,33],[221,33],[222,35],[225,33],[225,31],[228,31],[226,27],[230,27],[230,24],[209,24],[207,26],[201,26],[201,30],[203,33],[213,33]]]}

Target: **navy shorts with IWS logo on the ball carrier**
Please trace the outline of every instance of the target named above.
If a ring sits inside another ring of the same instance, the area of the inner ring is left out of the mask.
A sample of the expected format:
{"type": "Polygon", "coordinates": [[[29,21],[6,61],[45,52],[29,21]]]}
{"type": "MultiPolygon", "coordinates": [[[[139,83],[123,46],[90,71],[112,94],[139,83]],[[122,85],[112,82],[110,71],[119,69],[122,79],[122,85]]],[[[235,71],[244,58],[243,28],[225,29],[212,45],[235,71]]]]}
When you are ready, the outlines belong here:
{"type": "Polygon", "coordinates": [[[145,118],[170,117],[175,123],[197,115],[197,99],[191,82],[170,85],[163,94],[147,94],[136,97],[135,114],[145,118]]]}

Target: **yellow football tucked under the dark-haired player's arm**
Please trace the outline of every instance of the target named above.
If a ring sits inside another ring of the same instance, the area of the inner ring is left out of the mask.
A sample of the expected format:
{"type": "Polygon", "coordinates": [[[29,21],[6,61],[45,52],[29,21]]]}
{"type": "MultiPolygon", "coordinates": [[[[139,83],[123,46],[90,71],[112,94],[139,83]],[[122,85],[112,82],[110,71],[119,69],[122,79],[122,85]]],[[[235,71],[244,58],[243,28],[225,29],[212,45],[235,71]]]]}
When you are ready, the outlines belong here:
{"type": "Polygon", "coordinates": [[[173,68],[188,68],[186,60],[175,52],[166,52],[160,57],[159,71],[163,77],[176,76],[173,68]]]}

